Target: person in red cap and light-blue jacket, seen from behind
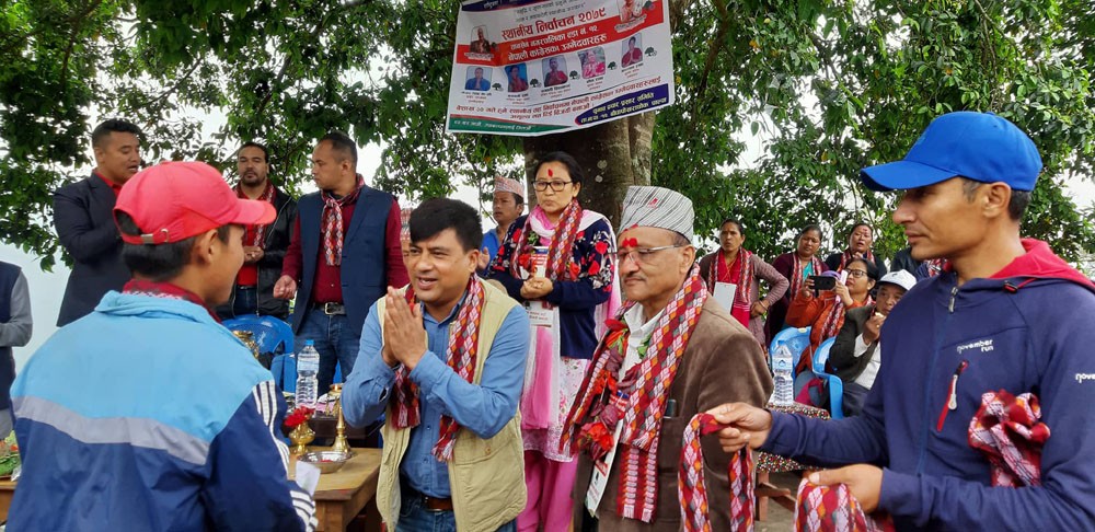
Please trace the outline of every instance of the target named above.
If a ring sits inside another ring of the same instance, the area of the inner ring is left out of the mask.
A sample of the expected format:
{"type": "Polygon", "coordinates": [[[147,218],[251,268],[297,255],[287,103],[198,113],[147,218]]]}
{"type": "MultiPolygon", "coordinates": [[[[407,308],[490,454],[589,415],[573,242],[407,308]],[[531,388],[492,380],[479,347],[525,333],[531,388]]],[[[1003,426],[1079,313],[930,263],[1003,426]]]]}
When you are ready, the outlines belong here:
{"type": "Polygon", "coordinates": [[[19,530],[313,530],[288,481],[273,375],[217,323],[243,264],[239,199],[205,163],[138,173],[115,217],[132,279],[58,331],[12,385],[19,530]]]}

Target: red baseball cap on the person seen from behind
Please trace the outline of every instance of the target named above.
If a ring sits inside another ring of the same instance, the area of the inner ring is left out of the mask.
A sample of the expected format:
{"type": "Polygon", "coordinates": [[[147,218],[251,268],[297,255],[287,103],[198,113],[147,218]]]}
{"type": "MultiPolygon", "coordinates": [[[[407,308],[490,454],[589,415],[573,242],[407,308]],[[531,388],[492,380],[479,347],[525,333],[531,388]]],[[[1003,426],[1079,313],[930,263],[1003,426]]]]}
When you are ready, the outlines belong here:
{"type": "Polygon", "coordinates": [[[122,233],[130,244],[168,244],[228,224],[274,221],[269,201],[240,199],[217,169],[196,161],[169,161],[145,169],[122,187],[115,220],[125,212],[140,235],[122,233]]]}

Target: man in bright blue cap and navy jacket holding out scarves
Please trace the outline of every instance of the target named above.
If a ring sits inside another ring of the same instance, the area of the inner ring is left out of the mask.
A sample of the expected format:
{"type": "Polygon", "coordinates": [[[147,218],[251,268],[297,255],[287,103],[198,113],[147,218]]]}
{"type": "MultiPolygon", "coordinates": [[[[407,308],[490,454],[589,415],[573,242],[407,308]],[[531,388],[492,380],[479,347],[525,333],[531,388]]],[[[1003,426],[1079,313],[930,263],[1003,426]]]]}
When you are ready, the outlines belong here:
{"type": "Polygon", "coordinates": [[[864,169],[868,188],[904,190],[894,221],[912,257],[948,265],[883,325],[884,363],[862,416],[819,423],[723,405],[712,413],[730,425],[724,449],[749,444],[837,467],[809,479],[845,484],[898,530],[1091,530],[1095,286],[1045,242],[1019,236],[1040,172],[1029,137],[969,112],[933,120],[904,160],[864,169]],[[1045,426],[1037,414],[1024,427],[1000,425],[1004,438],[988,446],[1000,454],[975,449],[991,432],[982,432],[984,413],[1039,406],[1045,426]]]}

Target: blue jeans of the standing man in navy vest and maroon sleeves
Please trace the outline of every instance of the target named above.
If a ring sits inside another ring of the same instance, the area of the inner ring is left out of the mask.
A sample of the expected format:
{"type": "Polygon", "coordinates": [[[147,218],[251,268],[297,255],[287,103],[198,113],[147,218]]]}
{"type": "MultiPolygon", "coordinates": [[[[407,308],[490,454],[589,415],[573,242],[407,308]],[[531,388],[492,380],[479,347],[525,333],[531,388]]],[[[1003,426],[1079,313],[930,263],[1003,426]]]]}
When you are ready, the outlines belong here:
{"type": "Polygon", "coordinates": [[[350,331],[350,327],[346,326],[345,315],[327,315],[322,310],[311,310],[304,315],[304,322],[300,324],[300,331],[293,342],[296,352],[304,348],[304,340],[314,342],[315,350],[320,351],[320,372],[316,374],[316,380],[320,385],[319,394],[323,395],[334,381],[335,365],[342,363],[344,380],[354,369],[357,350],[361,344],[361,332],[350,331]]]}

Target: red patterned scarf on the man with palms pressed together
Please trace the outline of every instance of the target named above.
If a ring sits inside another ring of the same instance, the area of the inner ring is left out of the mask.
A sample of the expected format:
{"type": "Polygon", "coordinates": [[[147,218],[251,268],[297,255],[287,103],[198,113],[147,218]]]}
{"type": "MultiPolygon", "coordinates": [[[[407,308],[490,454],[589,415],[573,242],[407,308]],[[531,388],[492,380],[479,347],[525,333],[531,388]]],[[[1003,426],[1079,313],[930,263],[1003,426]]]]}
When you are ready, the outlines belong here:
{"type": "MultiPolygon", "coordinates": [[[[407,287],[407,303],[414,303],[414,289],[407,287]]],[[[460,375],[472,382],[475,377],[479,350],[479,327],[483,316],[483,282],[477,276],[468,281],[466,296],[457,319],[449,325],[449,352],[446,363],[460,375]]],[[[405,366],[395,370],[395,393],[391,404],[392,423],[396,429],[417,427],[422,420],[418,404],[418,386],[411,381],[411,372],[405,366]]],[[[441,416],[440,435],[434,446],[434,456],[447,462],[452,460],[452,448],[457,442],[460,425],[449,416],[441,416]]]]}

